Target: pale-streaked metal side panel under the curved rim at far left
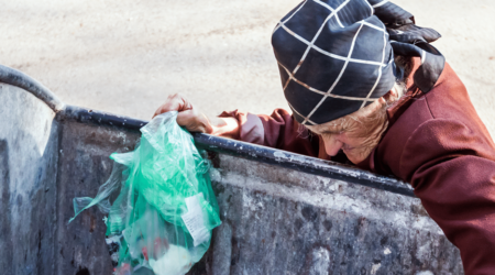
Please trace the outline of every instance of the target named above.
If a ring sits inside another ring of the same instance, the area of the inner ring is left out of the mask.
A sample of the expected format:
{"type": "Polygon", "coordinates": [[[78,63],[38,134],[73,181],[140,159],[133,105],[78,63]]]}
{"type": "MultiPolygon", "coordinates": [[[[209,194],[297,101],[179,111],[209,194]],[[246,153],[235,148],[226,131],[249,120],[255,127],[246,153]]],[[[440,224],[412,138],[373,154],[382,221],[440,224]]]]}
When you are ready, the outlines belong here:
{"type": "Polygon", "coordinates": [[[58,122],[43,101],[0,84],[0,271],[53,274],[58,122]]]}

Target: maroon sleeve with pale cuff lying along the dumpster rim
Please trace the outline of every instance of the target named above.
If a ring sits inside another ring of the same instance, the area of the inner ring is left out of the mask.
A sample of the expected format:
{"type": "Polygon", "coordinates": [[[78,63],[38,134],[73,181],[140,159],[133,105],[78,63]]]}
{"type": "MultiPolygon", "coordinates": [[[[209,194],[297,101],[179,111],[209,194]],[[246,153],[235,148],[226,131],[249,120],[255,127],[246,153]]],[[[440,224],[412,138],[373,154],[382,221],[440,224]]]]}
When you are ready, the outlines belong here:
{"type": "Polygon", "coordinates": [[[220,117],[238,120],[241,141],[315,157],[319,156],[319,138],[311,135],[284,109],[276,109],[271,116],[255,116],[235,110],[223,112],[220,117]]]}

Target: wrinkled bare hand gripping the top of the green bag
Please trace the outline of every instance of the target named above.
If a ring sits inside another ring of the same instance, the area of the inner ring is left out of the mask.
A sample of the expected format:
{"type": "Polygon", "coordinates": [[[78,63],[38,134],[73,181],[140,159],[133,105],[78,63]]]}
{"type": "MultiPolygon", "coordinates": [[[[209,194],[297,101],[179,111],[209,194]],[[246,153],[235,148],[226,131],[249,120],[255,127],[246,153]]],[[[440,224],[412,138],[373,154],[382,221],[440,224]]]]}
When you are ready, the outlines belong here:
{"type": "Polygon", "coordinates": [[[153,118],[169,111],[178,111],[177,124],[185,127],[189,132],[212,133],[213,131],[208,118],[180,94],[168,96],[153,118]]]}

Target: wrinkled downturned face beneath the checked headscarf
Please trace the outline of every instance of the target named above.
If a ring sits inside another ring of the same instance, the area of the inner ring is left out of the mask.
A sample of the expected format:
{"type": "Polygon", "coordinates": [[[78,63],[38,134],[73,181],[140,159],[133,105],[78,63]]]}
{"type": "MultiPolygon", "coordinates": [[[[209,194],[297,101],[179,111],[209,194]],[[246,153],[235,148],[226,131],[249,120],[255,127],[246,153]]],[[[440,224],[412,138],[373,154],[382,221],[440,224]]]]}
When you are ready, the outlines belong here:
{"type": "Polygon", "coordinates": [[[320,125],[307,128],[321,136],[327,154],[334,156],[342,150],[354,164],[366,160],[378,144],[387,125],[384,100],[320,125]]]}

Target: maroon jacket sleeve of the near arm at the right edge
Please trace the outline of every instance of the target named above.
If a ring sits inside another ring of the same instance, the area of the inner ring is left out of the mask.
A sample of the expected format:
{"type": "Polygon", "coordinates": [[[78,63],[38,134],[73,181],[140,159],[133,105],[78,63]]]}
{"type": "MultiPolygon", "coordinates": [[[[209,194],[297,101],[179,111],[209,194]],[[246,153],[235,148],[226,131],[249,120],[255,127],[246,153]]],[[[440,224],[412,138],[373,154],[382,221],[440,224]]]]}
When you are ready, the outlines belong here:
{"type": "Polygon", "coordinates": [[[461,122],[433,119],[408,139],[400,177],[461,251],[465,274],[495,274],[495,152],[461,122]]]}

